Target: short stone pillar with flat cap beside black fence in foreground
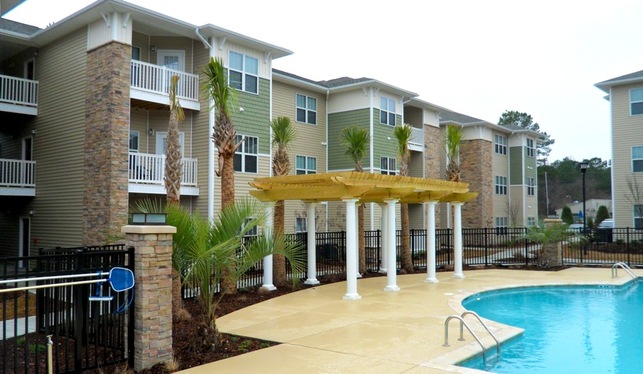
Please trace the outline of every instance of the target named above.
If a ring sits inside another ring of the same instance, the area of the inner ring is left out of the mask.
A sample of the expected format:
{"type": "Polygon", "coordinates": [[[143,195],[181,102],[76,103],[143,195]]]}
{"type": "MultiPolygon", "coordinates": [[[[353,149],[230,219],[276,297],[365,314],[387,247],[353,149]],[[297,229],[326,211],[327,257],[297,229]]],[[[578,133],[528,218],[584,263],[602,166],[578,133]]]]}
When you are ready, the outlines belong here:
{"type": "Polygon", "coordinates": [[[172,360],[173,226],[124,226],[134,247],[134,370],[172,360]]]}

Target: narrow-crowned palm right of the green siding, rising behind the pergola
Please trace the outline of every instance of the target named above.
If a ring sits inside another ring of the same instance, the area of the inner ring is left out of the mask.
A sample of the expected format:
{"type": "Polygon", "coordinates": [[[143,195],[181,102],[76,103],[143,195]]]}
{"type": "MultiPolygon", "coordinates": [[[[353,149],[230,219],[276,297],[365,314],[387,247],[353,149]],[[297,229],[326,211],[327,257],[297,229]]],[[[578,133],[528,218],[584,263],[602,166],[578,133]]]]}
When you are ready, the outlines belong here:
{"type": "MultiPolygon", "coordinates": [[[[409,175],[409,162],[411,150],[409,140],[411,139],[411,125],[405,123],[393,129],[393,135],[397,140],[397,155],[400,158],[400,175],[409,175]]],[[[402,269],[408,274],[412,273],[413,258],[411,256],[411,234],[409,232],[409,204],[400,204],[402,218],[402,269]]]]}

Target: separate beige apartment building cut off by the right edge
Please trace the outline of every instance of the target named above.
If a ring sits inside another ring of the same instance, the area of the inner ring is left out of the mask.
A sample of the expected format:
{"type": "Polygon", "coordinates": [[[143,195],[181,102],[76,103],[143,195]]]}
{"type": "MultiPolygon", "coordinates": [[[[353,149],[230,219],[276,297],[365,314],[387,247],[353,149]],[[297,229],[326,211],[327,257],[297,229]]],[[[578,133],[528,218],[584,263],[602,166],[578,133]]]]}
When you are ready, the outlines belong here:
{"type": "Polygon", "coordinates": [[[612,210],[616,227],[643,228],[643,70],[596,87],[612,119],[612,210]]]}

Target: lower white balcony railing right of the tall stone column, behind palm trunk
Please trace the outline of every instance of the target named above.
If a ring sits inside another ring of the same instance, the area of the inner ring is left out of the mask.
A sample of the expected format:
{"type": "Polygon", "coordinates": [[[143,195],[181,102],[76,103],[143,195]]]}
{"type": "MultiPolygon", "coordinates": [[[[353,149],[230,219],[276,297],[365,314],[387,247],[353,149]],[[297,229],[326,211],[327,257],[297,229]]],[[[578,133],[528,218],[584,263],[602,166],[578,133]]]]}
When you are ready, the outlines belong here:
{"type": "MultiPolygon", "coordinates": [[[[181,186],[196,187],[197,159],[183,158],[181,186]]],[[[165,186],[165,155],[148,153],[129,154],[129,182],[165,186]]]]}

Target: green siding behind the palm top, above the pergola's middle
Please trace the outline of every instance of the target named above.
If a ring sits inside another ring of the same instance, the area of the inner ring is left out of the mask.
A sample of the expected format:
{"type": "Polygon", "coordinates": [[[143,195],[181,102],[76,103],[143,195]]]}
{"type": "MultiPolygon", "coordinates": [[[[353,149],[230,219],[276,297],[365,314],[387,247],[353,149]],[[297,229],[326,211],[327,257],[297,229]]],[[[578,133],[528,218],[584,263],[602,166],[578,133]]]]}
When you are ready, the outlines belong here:
{"type": "MultiPolygon", "coordinates": [[[[355,164],[344,156],[342,129],[349,126],[363,127],[369,131],[370,118],[368,108],[328,115],[328,170],[353,169],[355,164]]],[[[362,160],[364,169],[370,168],[370,153],[367,150],[362,160]]]]}

